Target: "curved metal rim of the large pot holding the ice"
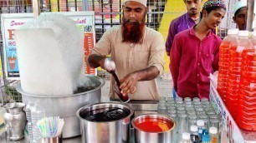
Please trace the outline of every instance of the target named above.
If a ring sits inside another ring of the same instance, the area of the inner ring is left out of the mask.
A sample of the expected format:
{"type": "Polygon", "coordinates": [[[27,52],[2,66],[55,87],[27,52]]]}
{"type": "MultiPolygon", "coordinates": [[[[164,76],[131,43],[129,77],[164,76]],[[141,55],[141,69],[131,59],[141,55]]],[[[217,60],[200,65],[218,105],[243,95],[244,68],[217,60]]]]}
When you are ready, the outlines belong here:
{"type": "MultiPolygon", "coordinates": [[[[89,74],[85,74],[85,76],[93,76],[93,75],[89,75],[89,74]]],[[[90,91],[84,91],[86,93],[90,93],[90,92],[93,92],[93,91],[97,91],[98,89],[100,89],[102,86],[105,85],[105,80],[101,79],[100,77],[98,76],[95,76],[96,78],[98,78],[100,80],[100,86],[97,86],[95,89],[93,90],[90,90],[90,91]]],[[[33,95],[33,94],[30,94],[28,92],[25,92],[22,90],[22,87],[21,87],[21,83],[18,82],[18,85],[16,87],[16,90],[23,94],[23,95],[26,95],[26,96],[34,96],[34,97],[38,97],[38,98],[60,98],[60,97],[69,97],[69,96],[79,96],[79,95],[82,95],[84,94],[84,92],[80,92],[80,93],[76,93],[76,94],[72,94],[72,95],[64,95],[64,96],[45,96],[45,95],[33,95]]]]}

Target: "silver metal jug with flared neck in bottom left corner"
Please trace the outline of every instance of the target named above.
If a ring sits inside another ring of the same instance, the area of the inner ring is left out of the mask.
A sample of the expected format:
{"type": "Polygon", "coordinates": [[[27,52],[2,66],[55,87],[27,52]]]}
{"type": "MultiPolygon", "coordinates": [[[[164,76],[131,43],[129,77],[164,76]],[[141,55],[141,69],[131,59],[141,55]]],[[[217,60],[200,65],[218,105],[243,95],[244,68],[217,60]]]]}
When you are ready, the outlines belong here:
{"type": "Polygon", "coordinates": [[[23,103],[8,103],[4,107],[4,122],[10,140],[20,140],[24,137],[24,130],[27,123],[23,103]]]}

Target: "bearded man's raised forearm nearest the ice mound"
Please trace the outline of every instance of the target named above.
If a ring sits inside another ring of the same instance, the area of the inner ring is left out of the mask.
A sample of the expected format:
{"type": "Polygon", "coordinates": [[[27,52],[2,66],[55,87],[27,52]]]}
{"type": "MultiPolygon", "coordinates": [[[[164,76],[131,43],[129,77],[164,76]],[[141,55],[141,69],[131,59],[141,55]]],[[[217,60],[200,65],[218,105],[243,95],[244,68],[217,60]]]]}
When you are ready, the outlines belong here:
{"type": "Polygon", "coordinates": [[[95,54],[89,55],[87,62],[90,67],[104,67],[104,61],[106,57],[101,57],[95,54]]]}

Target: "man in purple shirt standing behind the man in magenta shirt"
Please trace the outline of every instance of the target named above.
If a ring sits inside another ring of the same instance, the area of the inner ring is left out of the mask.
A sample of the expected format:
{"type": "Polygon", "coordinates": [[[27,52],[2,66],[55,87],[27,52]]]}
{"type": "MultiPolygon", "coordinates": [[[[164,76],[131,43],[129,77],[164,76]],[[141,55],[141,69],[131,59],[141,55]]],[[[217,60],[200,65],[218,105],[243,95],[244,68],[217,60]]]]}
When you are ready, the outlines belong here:
{"type": "Polygon", "coordinates": [[[200,8],[202,0],[183,0],[187,7],[187,13],[172,20],[166,39],[166,54],[170,56],[172,42],[175,35],[197,24],[200,20],[200,8]]]}

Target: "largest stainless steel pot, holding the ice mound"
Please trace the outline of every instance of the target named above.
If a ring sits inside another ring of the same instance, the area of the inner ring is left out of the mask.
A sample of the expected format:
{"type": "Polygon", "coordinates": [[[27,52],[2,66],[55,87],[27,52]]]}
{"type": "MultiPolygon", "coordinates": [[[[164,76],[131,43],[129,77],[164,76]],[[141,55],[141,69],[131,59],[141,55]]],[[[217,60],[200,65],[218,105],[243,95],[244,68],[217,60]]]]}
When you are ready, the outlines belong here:
{"type": "Polygon", "coordinates": [[[39,101],[40,106],[45,109],[46,116],[60,116],[64,118],[63,138],[80,135],[79,119],[75,112],[80,107],[100,102],[101,87],[105,81],[98,76],[86,75],[95,84],[95,89],[68,96],[38,96],[24,92],[19,84],[17,91],[22,94],[23,103],[28,101],[39,101]]]}

